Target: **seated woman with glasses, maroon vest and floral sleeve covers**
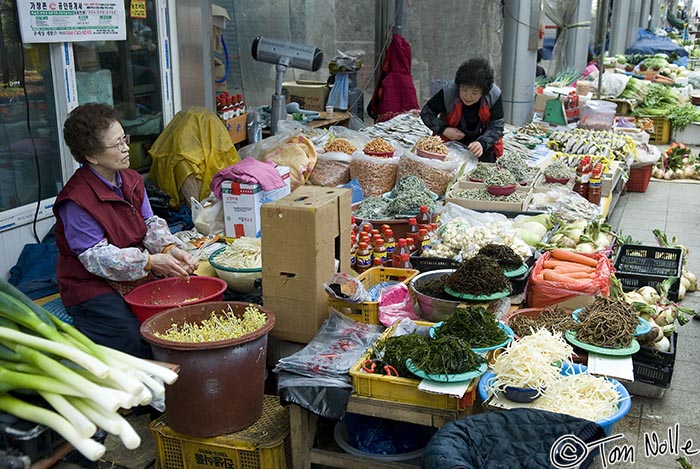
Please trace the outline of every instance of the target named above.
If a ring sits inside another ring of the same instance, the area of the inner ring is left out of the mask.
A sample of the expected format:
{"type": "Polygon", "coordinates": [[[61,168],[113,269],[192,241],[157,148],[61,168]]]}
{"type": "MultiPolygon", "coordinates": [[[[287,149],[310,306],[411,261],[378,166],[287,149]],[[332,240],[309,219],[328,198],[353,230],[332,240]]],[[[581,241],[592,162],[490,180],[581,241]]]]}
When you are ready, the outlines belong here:
{"type": "Polygon", "coordinates": [[[129,135],[104,104],[74,109],[63,136],[81,167],[56,198],[57,278],[73,324],[96,343],[149,357],[122,294],[155,277],[187,277],[196,260],[155,215],[129,169],[129,135]]]}

